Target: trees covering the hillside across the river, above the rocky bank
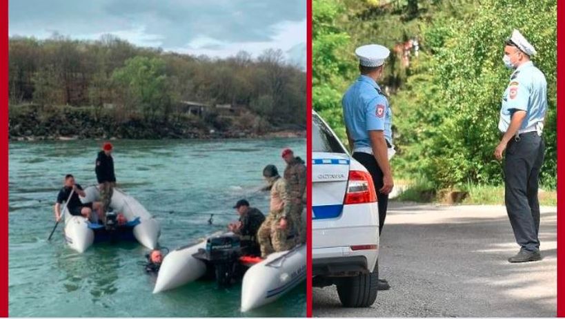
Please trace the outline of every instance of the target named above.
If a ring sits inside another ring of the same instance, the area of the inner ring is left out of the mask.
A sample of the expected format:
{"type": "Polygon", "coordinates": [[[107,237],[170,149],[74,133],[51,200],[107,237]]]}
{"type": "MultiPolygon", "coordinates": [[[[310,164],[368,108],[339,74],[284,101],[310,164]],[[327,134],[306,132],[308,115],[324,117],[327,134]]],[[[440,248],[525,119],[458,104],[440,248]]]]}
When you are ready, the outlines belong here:
{"type": "Polygon", "coordinates": [[[281,50],[212,59],[135,47],[103,35],[97,41],[10,37],[9,55],[10,105],[96,106],[98,115],[106,105],[117,109],[121,122],[134,117],[170,122],[190,117],[184,101],[210,108],[230,104],[237,108],[232,116],[255,118],[251,104],[270,99],[257,130],[306,126],[305,72],[288,64],[281,50]]]}

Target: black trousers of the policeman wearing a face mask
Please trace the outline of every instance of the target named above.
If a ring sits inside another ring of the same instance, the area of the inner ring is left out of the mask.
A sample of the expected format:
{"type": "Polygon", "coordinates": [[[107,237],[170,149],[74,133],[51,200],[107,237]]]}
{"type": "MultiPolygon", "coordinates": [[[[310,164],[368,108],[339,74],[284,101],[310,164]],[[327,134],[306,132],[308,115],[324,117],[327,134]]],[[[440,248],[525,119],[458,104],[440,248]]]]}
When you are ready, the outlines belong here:
{"type": "Polygon", "coordinates": [[[526,251],[539,251],[539,171],[544,164],[544,139],[535,132],[511,139],[506,147],[504,182],[506,212],[516,242],[526,251]]]}

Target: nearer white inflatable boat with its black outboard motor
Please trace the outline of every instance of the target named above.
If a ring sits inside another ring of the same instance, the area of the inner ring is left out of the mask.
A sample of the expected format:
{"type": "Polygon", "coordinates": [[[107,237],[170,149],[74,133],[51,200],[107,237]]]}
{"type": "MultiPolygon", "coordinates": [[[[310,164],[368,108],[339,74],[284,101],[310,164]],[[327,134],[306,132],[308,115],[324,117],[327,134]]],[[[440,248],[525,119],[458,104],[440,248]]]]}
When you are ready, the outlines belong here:
{"type": "Polygon", "coordinates": [[[272,253],[265,260],[244,251],[232,233],[175,249],[163,258],[153,293],[200,278],[215,278],[219,286],[241,279],[241,311],[249,311],[277,300],[306,279],[306,245],[272,253]]]}

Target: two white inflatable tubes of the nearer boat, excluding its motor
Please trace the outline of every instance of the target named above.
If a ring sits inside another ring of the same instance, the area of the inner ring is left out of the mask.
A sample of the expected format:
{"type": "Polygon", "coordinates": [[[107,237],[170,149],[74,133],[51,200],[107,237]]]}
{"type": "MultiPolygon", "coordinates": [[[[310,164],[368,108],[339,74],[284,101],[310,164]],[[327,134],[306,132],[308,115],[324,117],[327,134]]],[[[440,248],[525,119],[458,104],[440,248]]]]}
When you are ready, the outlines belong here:
{"type": "MultiPolygon", "coordinates": [[[[232,235],[212,235],[206,240],[181,247],[163,258],[153,293],[181,287],[210,273],[210,264],[199,258],[210,240],[232,235]]],[[[229,244],[221,245],[229,250],[229,244]]],[[[225,255],[222,255],[225,256],[225,255]]],[[[290,251],[272,253],[260,262],[237,262],[244,268],[241,287],[241,311],[248,311],[277,300],[306,278],[306,245],[290,251]]],[[[217,276],[216,276],[217,277],[217,276]]],[[[216,278],[218,279],[218,278],[216,278]]]]}

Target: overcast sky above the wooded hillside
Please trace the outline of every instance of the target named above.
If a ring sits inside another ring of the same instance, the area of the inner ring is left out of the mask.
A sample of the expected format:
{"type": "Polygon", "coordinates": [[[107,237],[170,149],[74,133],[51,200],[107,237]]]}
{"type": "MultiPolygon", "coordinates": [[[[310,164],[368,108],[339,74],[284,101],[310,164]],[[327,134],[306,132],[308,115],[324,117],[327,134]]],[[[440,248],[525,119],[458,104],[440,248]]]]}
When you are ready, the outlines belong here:
{"type": "Polygon", "coordinates": [[[280,48],[306,65],[304,0],[11,0],[10,36],[99,39],[228,57],[280,48]]]}

